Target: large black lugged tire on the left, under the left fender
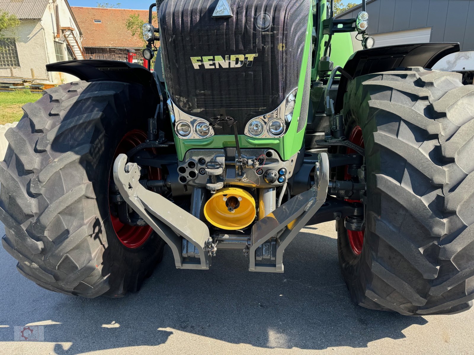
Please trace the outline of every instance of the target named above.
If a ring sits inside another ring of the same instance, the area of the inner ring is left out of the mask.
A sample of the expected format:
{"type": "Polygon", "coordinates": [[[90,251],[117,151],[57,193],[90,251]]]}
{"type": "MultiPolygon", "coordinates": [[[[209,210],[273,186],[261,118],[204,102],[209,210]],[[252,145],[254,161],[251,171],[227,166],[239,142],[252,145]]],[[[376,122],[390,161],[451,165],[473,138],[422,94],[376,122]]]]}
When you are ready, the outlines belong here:
{"type": "Polygon", "coordinates": [[[120,297],[138,290],[161,260],[164,241],[156,233],[127,248],[109,215],[114,152],[128,131],[145,129],[134,117],[137,108],[141,117],[149,114],[142,91],[112,81],[48,89],[5,134],[2,244],[36,284],[89,298],[120,297]]]}

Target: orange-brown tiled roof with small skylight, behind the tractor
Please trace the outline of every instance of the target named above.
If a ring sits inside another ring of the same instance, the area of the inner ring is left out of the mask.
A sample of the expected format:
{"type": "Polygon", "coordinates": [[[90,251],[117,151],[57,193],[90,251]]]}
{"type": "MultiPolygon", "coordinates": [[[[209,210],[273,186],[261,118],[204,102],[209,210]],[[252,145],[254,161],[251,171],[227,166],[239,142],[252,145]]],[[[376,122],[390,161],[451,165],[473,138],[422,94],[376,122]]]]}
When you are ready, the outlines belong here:
{"type": "Polygon", "coordinates": [[[133,36],[125,27],[125,23],[130,15],[135,14],[138,14],[144,22],[148,22],[148,10],[77,6],[71,6],[71,9],[81,27],[84,47],[142,48],[145,44],[141,30],[133,36]],[[94,20],[100,20],[100,23],[94,20]]]}

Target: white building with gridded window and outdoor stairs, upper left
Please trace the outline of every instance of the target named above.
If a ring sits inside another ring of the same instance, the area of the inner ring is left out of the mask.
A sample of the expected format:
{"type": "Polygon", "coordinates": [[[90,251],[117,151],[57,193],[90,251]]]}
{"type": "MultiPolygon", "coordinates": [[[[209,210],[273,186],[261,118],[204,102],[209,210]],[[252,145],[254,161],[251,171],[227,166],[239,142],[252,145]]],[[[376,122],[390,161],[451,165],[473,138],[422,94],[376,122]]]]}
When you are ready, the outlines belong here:
{"type": "Polygon", "coordinates": [[[81,29],[67,0],[0,0],[3,11],[16,15],[21,24],[5,32],[9,39],[0,43],[6,48],[0,51],[0,77],[55,84],[77,80],[46,71],[48,63],[84,59],[81,29]]]}

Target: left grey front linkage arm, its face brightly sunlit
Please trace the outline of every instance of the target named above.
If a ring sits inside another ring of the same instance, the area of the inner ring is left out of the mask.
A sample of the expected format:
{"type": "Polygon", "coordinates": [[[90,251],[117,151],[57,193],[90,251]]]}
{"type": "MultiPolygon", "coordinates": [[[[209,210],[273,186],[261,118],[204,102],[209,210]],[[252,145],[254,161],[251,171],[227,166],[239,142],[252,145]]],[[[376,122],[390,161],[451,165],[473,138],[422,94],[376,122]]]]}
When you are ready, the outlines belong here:
{"type": "Polygon", "coordinates": [[[125,202],[170,246],[177,268],[209,269],[214,245],[206,224],[142,186],[138,181],[140,168],[136,163],[127,164],[127,160],[127,155],[118,155],[113,168],[114,181],[125,202]],[[182,237],[199,250],[199,258],[182,256],[182,237]]]}

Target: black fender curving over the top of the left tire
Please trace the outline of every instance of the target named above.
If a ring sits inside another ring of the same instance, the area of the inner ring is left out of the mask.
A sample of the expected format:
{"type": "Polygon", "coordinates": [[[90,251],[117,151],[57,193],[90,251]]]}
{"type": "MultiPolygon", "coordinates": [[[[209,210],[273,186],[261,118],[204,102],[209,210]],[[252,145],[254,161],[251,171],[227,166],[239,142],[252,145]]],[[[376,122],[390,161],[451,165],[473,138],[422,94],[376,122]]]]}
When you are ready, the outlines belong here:
{"type": "Polygon", "coordinates": [[[136,63],[102,59],[74,60],[46,64],[46,71],[61,71],[86,81],[111,80],[140,84],[145,93],[155,96],[159,103],[160,93],[155,76],[136,63]]]}

